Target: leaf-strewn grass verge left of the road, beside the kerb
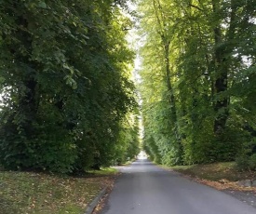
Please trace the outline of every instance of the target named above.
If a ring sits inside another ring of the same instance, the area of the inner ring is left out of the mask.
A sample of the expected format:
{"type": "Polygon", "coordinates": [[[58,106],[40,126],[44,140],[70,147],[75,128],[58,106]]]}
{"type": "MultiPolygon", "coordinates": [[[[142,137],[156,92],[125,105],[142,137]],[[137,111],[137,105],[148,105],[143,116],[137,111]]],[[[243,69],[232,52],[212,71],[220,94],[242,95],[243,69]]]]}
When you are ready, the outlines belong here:
{"type": "Polygon", "coordinates": [[[80,214],[115,175],[112,168],[87,177],[0,171],[1,214],[80,214]]]}

